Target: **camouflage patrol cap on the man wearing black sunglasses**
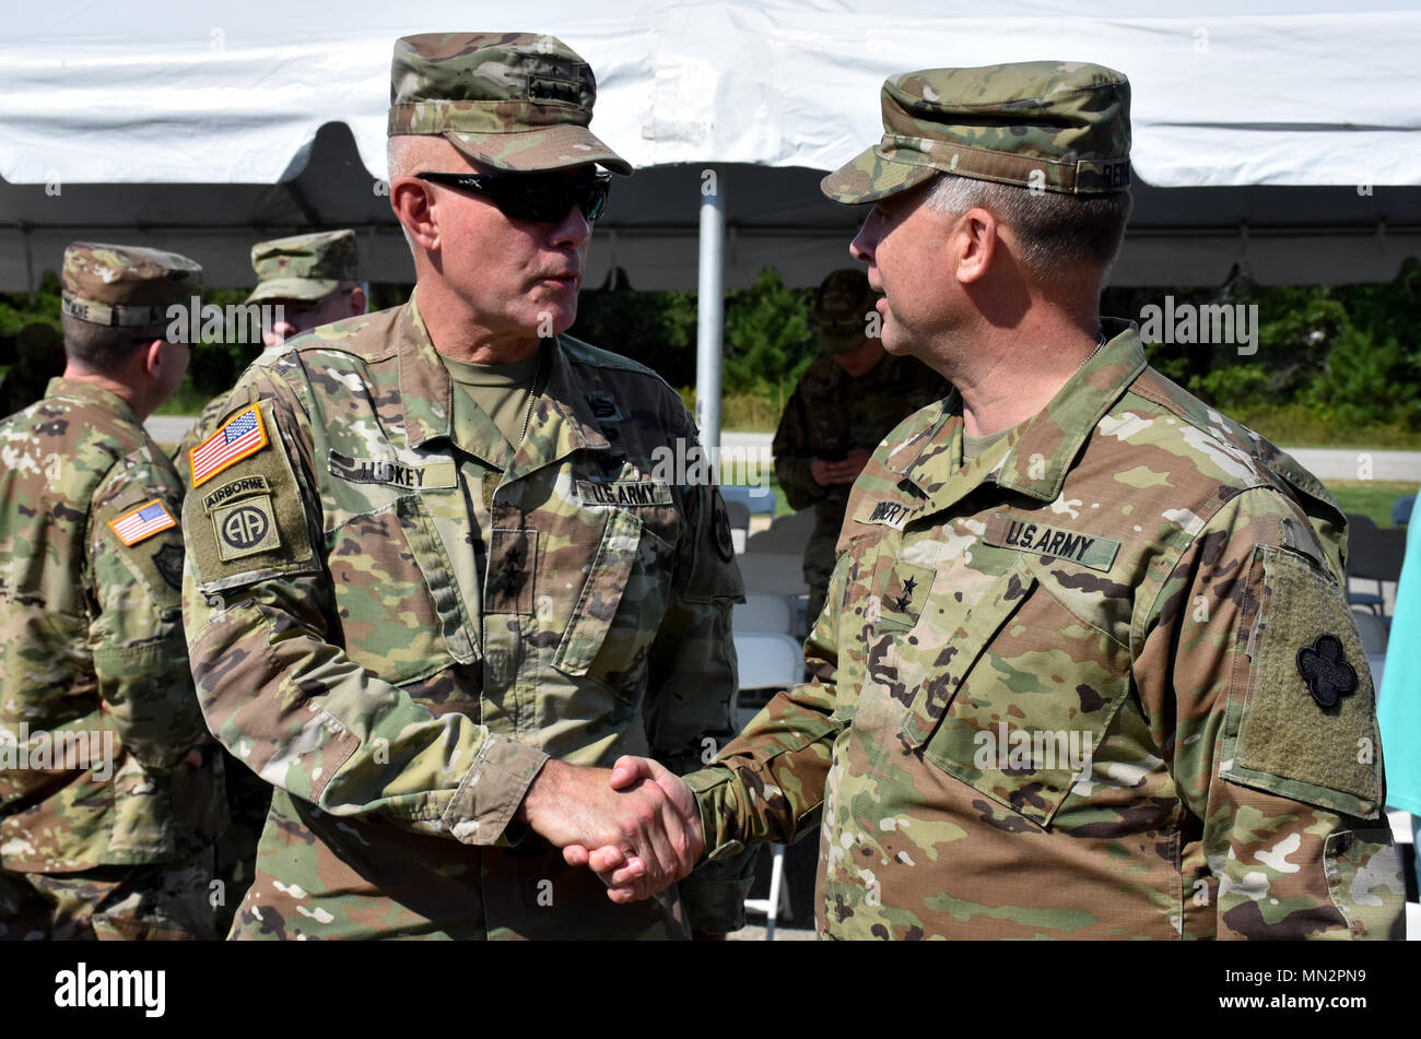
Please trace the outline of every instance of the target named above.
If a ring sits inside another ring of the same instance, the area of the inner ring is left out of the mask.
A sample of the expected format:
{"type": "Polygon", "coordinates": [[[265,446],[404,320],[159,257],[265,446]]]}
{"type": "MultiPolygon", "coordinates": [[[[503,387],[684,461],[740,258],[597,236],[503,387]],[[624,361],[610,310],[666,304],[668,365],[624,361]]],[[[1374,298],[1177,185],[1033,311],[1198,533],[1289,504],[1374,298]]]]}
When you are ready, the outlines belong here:
{"type": "Polygon", "coordinates": [[[593,136],[597,79],[557,37],[530,33],[425,33],[395,41],[389,136],[442,136],[469,159],[502,170],[631,165],[593,136]]]}

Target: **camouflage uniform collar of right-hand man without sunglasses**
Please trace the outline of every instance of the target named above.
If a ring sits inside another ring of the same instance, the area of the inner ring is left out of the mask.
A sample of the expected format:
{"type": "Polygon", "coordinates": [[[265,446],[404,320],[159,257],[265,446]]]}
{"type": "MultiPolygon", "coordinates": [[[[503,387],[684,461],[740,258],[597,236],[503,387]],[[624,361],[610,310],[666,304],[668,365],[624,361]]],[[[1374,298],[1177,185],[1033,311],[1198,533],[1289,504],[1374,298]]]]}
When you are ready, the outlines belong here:
{"type": "MultiPolygon", "coordinates": [[[[1054,501],[1086,439],[1145,369],[1145,351],[1134,322],[1101,318],[1100,324],[1113,338],[1044,409],[1022,423],[1016,443],[996,467],[1002,487],[1054,501]]],[[[953,450],[953,440],[961,431],[962,395],[953,389],[944,402],[942,419],[899,444],[885,464],[931,497],[942,484],[941,456],[951,454],[952,470],[958,468],[961,453],[953,450]]]]}

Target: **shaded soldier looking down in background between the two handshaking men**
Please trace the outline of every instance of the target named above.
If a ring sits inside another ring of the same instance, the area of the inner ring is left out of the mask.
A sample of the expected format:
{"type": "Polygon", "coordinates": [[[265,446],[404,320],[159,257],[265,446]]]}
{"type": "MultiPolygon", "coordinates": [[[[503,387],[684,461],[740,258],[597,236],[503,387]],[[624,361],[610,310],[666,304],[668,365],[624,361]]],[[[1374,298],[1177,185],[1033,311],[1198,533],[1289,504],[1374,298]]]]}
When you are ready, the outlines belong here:
{"type": "Polygon", "coordinates": [[[800,376],[774,431],[774,475],[786,500],[791,508],[814,507],[814,532],[804,545],[811,620],[824,609],[848,488],[888,430],[952,389],[921,361],[884,352],[874,298],[860,270],[824,278],[814,298],[824,356],[800,376]]]}

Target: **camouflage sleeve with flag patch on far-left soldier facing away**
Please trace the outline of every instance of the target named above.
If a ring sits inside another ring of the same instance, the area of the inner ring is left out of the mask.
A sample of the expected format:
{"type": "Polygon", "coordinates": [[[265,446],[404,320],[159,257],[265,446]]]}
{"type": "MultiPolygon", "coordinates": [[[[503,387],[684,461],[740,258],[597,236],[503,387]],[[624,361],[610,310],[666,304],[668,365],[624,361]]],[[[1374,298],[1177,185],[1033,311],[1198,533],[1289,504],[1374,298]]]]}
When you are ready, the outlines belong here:
{"type": "Polygon", "coordinates": [[[144,449],[99,484],[88,532],[98,691],[124,747],[146,768],[171,768],[207,737],[183,644],[180,501],[172,468],[144,449]],[[136,512],[152,517],[151,534],[136,512]]]}

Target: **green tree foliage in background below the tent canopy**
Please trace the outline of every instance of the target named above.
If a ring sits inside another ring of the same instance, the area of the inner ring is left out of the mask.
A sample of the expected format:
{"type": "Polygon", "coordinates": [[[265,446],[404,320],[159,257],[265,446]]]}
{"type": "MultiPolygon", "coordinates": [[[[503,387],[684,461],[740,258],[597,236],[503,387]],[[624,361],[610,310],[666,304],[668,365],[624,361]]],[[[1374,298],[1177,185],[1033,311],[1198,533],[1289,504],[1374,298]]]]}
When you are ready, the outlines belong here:
{"type": "MultiPolygon", "coordinates": [[[[409,285],[371,287],[372,305],[409,297],[409,285]]],[[[789,288],[766,268],[730,292],[725,307],[726,417],[743,414],[773,427],[794,380],[814,359],[811,288],[789,288]],[[747,405],[730,407],[735,402],[747,405]]],[[[1218,288],[1107,290],[1101,312],[1140,319],[1145,305],[1258,305],[1258,352],[1231,346],[1157,343],[1150,361],[1211,405],[1275,440],[1329,443],[1339,437],[1377,446],[1421,441],[1421,263],[1408,260],[1384,284],[1260,287],[1235,271],[1218,288]]],[[[240,304],[246,290],[209,290],[203,301],[240,304]]],[[[60,282],[47,271],[31,294],[0,295],[0,365],[16,332],[31,321],[58,326],[60,282]]],[[[696,294],[638,292],[622,271],[583,292],[573,335],[634,358],[672,386],[695,383],[696,294]]],[[[192,396],[227,389],[260,343],[217,342],[193,351],[192,396]]]]}

